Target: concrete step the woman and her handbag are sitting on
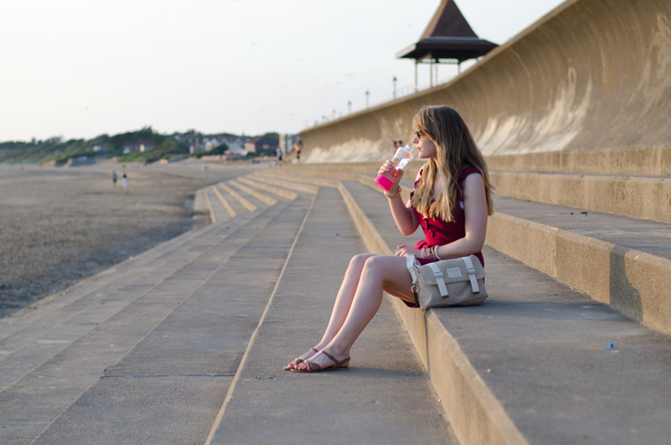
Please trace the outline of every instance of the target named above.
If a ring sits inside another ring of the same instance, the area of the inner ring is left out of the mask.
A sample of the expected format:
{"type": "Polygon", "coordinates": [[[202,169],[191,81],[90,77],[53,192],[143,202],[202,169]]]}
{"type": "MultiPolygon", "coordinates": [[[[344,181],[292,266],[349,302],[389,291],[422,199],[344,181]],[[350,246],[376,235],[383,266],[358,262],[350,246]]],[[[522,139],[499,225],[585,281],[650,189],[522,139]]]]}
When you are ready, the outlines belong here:
{"type": "MultiPolygon", "coordinates": [[[[386,199],[343,187],[371,250],[406,241],[386,199]]],[[[671,338],[496,249],[484,254],[480,307],[423,314],[392,298],[459,442],[665,443],[671,338]]]]}

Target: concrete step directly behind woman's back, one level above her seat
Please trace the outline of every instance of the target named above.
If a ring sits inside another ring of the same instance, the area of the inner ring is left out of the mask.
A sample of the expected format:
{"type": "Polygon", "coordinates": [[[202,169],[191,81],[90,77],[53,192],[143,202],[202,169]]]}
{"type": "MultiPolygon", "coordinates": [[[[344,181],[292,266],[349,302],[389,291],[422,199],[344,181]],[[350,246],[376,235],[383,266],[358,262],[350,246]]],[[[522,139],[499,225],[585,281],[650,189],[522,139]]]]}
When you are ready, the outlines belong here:
{"type": "Polygon", "coordinates": [[[496,197],[486,243],[671,333],[668,224],[496,197]]]}

